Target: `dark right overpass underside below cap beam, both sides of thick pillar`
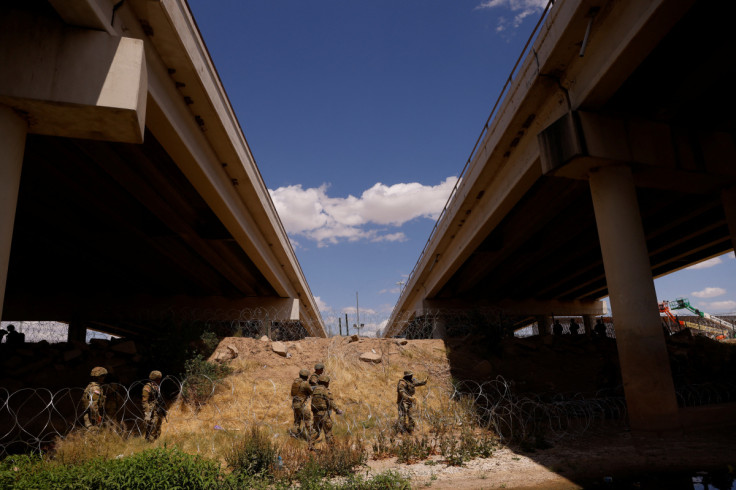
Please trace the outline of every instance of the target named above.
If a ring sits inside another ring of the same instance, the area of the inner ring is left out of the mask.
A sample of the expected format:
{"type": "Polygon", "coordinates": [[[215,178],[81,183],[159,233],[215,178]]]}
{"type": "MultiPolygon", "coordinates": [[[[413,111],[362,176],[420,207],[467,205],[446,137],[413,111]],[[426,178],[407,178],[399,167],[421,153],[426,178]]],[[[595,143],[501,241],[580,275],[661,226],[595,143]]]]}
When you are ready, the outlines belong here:
{"type": "MultiPolygon", "coordinates": [[[[637,197],[655,276],[733,247],[719,193],[646,189],[637,197]]],[[[607,295],[588,183],[542,177],[435,299],[591,301],[607,295]]]]}

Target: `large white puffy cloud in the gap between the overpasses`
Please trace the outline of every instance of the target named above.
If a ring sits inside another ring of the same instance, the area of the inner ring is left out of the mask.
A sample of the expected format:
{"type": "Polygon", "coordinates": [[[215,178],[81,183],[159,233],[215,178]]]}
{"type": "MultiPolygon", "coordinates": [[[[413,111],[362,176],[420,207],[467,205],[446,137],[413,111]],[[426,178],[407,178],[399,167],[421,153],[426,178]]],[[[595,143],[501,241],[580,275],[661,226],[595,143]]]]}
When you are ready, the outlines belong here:
{"type": "Polygon", "coordinates": [[[456,182],[457,177],[435,186],[379,182],[360,197],[331,197],[327,184],[308,189],[291,185],[269,192],[286,231],[323,247],[340,241],[404,241],[404,233],[387,227],[415,218],[437,219],[456,182]]]}

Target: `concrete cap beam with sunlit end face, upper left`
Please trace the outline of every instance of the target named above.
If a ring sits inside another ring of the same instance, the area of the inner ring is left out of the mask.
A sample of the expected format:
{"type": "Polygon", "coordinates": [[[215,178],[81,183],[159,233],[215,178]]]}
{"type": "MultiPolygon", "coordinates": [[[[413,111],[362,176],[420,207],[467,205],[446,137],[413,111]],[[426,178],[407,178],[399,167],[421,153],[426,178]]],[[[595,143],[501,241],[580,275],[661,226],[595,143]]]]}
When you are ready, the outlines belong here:
{"type": "Polygon", "coordinates": [[[13,12],[0,18],[0,103],[36,134],[140,143],[143,42],[13,12]]]}

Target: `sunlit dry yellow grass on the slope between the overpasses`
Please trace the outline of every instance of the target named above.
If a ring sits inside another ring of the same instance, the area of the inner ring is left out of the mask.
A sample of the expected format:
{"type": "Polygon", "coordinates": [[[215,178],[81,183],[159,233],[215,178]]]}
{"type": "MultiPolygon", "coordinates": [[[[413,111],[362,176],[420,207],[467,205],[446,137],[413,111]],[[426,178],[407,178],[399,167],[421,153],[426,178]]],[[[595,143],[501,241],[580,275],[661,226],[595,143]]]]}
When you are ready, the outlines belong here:
{"type": "MultiPolygon", "coordinates": [[[[436,341],[413,341],[399,346],[392,340],[370,339],[348,343],[345,338],[324,342],[325,371],[330,389],[344,415],[333,414],[333,432],[338,439],[360,438],[371,447],[378,438],[393,434],[397,418],[396,384],[406,369],[416,379],[428,378],[417,388],[417,435],[459,426],[467,421],[467,403],[450,399],[452,385],[444,346],[436,341]],[[358,360],[360,351],[371,348],[382,354],[380,364],[358,360]]],[[[141,437],[123,438],[115,433],[73,434],[59,443],[58,456],[81,460],[94,456],[128,455],[148,447],[167,445],[224,462],[239,436],[254,425],[266,430],[272,440],[288,451],[302,451],[306,445],[287,436],[293,422],[288,373],[264,369],[264,364],[244,356],[231,363],[232,375],[220,382],[214,396],[199,410],[176,401],[163,423],[162,436],[154,443],[141,437]],[[288,374],[288,375],[286,375],[288,374]]],[[[306,366],[305,366],[306,367],[306,366]]],[[[392,436],[393,437],[393,436],[392,436]]]]}

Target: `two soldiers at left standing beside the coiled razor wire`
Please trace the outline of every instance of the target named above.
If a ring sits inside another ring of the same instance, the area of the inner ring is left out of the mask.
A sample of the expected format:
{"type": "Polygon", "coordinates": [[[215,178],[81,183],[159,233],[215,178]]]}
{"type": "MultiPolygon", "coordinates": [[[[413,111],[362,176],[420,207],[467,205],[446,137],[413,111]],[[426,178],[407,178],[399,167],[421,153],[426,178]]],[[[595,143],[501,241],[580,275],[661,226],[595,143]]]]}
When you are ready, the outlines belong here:
{"type": "MultiPolygon", "coordinates": [[[[84,426],[90,430],[99,430],[103,425],[114,425],[115,420],[108,417],[111,410],[111,399],[119,398],[119,395],[110,385],[105,384],[107,369],[101,366],[92,368],[90,373],[92,381],[84,389],[82,394],[82,406],[84,407],[84,426]]],[[[148,382],[143,386],[141,402],[143,407],[143,429],[147,441],[154,441],[161,435],[161,424],[166,418],[166,403],[161,396],[161,371],[151,371],[148,382]]],[[[113,403],[118,406],[118,403],[113,403]]]]}

